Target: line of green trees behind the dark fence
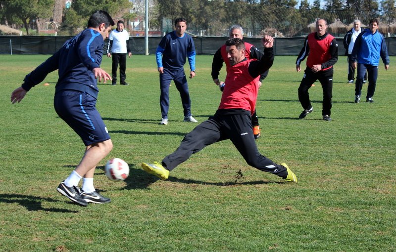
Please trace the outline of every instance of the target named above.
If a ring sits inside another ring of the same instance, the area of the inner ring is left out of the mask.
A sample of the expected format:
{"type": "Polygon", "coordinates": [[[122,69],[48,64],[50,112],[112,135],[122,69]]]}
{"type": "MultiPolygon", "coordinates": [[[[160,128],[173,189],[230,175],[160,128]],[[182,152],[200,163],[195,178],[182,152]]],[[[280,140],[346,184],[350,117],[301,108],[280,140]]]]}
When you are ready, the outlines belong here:
{"type": "MultiPolygon", "coordinates": [[[[249,36],[262,33],[295,37],[309,32],[307,25],[316,18],[328,22],[338,19],[350,24],[371,18],[381,22],[396,21],[396,0],[149,0],[149,30],[169,31],[172,20],[185,17],[189,31],[203,36],[224,36],[232,24],[245,28],[249,36]],[[169,27],[170,26],[170,27],[169,27]]],[[[145,15],[145,0],[0,0],[0,23],[23,25],[29,35],[29,23],[36,21],[37,33],[43,22],[50,22],[60,35],[75,34],[86,26],[91,13],[103,9],[114,19],[133,21],[145,15]],[[61,11],[60,11],[61,9],[61,11]]],[[[134,29],[129,27],[129,29],[134,29]]]]}

